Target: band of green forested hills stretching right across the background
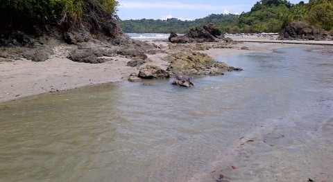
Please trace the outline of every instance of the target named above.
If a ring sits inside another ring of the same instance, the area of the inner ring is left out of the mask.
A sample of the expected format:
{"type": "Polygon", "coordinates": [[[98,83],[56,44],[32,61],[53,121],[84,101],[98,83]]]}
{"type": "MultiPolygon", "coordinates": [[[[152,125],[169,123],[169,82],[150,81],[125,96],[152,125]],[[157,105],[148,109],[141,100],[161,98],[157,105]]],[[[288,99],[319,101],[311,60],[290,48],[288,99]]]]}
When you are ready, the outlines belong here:
{"type": "Polygon", "coordinates": [[[210,15],[194,21],[168,19],[124,20],[121,28],[126,33],[187,33],[190,28],[214,23],[223,33],[278,33],[292,21],[306,21],[313,26],[333,30],[333,1],[310,0],[292,4],[287,0],[261,0],[250,12],[241,15],[210,15]]]}

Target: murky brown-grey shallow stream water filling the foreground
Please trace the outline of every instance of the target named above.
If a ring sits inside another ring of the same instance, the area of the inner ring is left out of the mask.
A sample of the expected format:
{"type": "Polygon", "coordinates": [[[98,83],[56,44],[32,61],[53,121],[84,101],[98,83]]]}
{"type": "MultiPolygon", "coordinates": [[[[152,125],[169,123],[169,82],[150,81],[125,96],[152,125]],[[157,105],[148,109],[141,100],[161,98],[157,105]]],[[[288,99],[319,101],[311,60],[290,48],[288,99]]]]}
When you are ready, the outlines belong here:
{"type": "Polygon", "coordinates": [[[225,165],[237,165],[228,181],[276,181],[309,163],[332,173],[327,49],[225,57],[244,71],[193,80],[194,89],[121,83],[0,104],[0,181],[215,181],[225,165]]]}

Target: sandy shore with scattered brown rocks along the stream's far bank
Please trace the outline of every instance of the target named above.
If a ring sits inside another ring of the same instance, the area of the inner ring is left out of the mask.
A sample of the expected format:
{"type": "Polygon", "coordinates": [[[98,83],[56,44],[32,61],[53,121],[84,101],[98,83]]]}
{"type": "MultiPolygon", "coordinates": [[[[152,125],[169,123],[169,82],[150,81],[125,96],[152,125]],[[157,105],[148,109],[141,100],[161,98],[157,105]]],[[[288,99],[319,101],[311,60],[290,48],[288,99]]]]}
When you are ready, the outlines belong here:
{"type": "Polygon", "coordinates": [[[128,78],[137,79],[140,69],[145,66],[158,66],[171,78],[175,73],[190,78],[223,75],[240,69],[216,62],[218,57],[270,52],[275,48],[296,46],[234,44],[223,39],[219,42],[173,44],[164,40],[138,41],[126,35],[117,39],[90,37],[89,41],[85,41],[87,38],[80,39],[78,35],[72,36],[76,39],[73,44],[54,36],[44,36],[33,40],[26,37],[19,44],[1,46],[0,102],[40,93],[120,82],[128,78]],[[248,50],[243,49],[244,46],[248,50]]]}

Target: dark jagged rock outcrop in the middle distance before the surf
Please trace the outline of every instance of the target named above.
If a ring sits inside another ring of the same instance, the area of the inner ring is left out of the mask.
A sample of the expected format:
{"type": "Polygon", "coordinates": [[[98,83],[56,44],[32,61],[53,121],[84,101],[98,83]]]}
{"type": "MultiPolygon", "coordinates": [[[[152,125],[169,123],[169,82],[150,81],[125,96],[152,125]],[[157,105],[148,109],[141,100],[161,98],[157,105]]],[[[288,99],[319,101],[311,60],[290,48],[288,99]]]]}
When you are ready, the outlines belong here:
{"type": "Polygon", "coordinates": [[[203,43],[203,42],[219,42],[223,39],[221,31],[214,26],[214,24],[208,24],[203,28],[192,28],[184,36],[178,36],[176,33],[171,33],[169,42],[176,44],[186,43],[203,43]]]}

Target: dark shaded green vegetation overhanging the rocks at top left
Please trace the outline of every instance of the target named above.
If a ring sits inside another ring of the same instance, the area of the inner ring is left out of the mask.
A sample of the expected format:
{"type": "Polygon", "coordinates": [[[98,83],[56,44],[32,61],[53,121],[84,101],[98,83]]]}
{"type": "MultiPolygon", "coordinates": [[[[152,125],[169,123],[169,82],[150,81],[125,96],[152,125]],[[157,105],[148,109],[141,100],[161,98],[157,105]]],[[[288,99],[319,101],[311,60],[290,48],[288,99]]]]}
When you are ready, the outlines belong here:
{"type": "Polygon", "coordinates": [[[103,28],[117,11],[114,0],[1,0],[0,33],[34,32],[56,26],[62,30],[103,28]]]}

